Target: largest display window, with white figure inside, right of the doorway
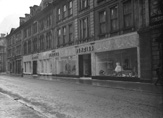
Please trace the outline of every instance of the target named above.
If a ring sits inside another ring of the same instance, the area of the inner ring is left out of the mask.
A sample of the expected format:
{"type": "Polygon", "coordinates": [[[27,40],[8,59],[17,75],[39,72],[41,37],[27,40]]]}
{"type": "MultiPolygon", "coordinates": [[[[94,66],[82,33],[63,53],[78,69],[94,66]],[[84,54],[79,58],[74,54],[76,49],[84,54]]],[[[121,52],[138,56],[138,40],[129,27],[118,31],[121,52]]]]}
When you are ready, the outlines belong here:
{"type": "Polygon", "coordinates": [[[137,77],[137,48],[96,53],[96,76],[137,77]]]}

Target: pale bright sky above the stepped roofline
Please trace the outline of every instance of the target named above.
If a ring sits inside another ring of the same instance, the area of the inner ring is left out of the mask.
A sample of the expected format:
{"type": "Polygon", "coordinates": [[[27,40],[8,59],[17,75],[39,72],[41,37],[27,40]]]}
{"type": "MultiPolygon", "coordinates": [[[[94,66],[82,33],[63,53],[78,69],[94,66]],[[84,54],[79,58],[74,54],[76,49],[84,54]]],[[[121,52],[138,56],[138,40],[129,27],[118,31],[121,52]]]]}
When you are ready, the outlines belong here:
{"type": "Polygon", "coordinates": [[[19,27],[19,17],[30,13],[30,6],[40,5],[41,0],[0,0],[0,33],[10,33],[19,27]]]}

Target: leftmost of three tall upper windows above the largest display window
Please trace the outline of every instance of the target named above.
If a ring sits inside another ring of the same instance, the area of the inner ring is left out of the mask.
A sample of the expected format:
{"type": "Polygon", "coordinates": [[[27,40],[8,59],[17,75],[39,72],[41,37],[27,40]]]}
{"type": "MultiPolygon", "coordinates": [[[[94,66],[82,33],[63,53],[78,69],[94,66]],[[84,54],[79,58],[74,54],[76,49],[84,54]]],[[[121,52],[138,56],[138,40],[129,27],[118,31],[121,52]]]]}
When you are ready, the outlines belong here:
{"type": "Polygon", "coordinates": [[[100,22],[100,34],[106,33],[106,11],[101,11],[99,13],[99,22],[100,22]]]}

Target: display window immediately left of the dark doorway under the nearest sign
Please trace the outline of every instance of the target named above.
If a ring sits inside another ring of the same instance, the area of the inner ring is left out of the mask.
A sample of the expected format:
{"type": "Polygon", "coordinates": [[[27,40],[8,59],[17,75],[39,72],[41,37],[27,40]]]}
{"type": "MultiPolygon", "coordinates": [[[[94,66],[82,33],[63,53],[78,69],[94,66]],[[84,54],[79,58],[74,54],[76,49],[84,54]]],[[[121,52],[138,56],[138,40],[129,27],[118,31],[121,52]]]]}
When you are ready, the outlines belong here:
{"type": "Polygon", "coordinates": [[[64,57],[59,60],[59,75],[76,75],[75,56],[64,57]]]}

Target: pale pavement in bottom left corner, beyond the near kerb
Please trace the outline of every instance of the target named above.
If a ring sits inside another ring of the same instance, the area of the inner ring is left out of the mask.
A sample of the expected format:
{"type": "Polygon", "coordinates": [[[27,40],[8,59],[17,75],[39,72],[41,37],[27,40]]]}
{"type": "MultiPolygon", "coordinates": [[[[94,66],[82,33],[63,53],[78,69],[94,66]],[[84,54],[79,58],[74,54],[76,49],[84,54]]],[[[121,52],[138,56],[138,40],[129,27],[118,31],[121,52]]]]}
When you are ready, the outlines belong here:
{"type": "Polygon", "coordinates": [[[45,118],[32,108],[0,93],[1,118],[45,118]]]}

